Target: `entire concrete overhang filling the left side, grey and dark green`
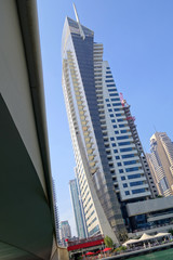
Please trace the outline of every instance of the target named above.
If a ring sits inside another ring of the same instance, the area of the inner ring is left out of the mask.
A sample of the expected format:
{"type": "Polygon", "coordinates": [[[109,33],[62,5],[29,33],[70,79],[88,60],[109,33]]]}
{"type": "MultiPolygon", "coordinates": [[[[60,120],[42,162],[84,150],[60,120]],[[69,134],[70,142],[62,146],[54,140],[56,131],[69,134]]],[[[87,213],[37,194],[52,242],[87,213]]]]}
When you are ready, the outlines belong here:
{"type": "Polygon", "coordinates": [[[0,259],[46,260],[57,247],[37,4],[2,0],[0,14],[0,259]]]}

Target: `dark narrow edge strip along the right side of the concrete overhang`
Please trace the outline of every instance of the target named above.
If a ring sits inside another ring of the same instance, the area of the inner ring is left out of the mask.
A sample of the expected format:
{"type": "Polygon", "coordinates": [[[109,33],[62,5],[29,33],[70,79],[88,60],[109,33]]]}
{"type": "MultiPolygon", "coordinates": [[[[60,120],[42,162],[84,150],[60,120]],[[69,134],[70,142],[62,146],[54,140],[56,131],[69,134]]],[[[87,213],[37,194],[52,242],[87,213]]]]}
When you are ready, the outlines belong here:
{"type": "Polygon", "coordinates": [[[16,0],[16,8],[25,49],[29,86],[35,113],[36,128],[42,157],[48,199],[51,207],[52,220],[54,221],[53,187],[51,165],[49,156],[49,141],[46,131],[46,116],[44,102],[44,87],[42,75],[42,62],[39,39],[39,25],[36,0],[16,0]]]}

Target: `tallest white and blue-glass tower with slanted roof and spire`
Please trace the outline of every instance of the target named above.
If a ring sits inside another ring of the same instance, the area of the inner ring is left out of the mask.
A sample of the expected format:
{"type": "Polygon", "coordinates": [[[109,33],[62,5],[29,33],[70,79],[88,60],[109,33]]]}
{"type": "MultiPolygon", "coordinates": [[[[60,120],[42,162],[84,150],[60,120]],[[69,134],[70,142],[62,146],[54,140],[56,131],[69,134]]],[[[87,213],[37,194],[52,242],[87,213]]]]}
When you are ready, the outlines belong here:
{"type": "Polygon", "coordinates": [[[125,205],[150,197],[132,131],[103,44],[67,17],[62,40],[63,90],[89,236],[124,240],[125,205]]]}

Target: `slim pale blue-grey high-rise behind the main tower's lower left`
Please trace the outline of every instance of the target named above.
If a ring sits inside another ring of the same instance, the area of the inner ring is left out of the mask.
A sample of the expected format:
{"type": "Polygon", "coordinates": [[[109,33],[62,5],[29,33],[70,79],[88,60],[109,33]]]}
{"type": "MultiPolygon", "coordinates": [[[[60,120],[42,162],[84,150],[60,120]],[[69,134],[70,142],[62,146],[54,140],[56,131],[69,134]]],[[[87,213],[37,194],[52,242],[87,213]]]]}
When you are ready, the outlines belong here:
{"type": "Polygon", "coordinates": [[[69,181],[70,196],[72,203],[72,209],[75,214],[75,221],[77,226],[77,233],[79,238],[86,237],[86,229],[85,229],[85,219],[83,216],[83,208],[80,202],[77,180],[69,181]]]}

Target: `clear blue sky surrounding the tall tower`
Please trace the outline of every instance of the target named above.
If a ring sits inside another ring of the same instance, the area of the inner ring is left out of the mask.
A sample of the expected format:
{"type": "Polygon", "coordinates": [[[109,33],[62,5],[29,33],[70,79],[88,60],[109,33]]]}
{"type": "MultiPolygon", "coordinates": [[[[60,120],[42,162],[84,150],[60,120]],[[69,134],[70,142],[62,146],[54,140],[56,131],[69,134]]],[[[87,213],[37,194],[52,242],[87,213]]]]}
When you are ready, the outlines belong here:
{"type": "MultiPolygon", "coordinates": [[[[75,0],[81,24],[104,44],[119,92],[131,105],[146,152],[149,138],[165,131],[173,140],[173,1],[75,0]]],[[[68,182],[74,179],[74,152],[62,91],[62,31],[75,20],[72,1],[38,0],[42,66],[52,173],[61,220],[76,234],[68,182]]]]}

